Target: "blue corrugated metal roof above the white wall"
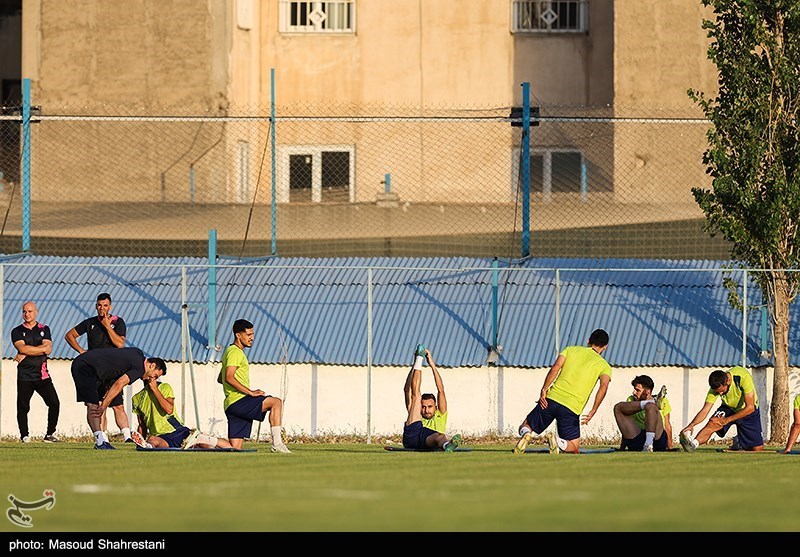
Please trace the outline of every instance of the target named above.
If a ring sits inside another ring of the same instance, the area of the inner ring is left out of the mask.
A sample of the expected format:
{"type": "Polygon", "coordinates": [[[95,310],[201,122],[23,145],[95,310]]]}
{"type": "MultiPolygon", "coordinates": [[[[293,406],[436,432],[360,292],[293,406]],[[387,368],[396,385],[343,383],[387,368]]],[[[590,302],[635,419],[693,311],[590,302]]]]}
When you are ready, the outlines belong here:
{"type": "MultiPolygon", "coordinates": [[[[253,363],[365,365],[371,323],[373,365],[410,363],[413,347],[423,342],[439,365],[481,366],[494,341],[495,319],[502,365],[549,366],[560,347],[584,344],[596,328],[609,332],[605,356],[616,366],[742,362],[742,316],[728,304],[723,286],[730,262],[527,259],[498,261],[496,274],[492,263],[466,257],[220,258],[216,306],[210,308],[203,258],[9,256],[0,258],[3,354],[13,354],[9,333],[21,322],[22,303],[34,300],[39,320],[53,334],[51,357],[73,358],[64,334],[96,315],[97,294],[107,291],[113,313],[128,326],[128,344],[169,361],[182,360],[186,303],[191,343],[185,352],[201,362],[219,360],[233,321],[242,317],[256,330],[248,353],[253,363]],[[216,346],[209,348],[211,312],[216,346]]],[[[750,305],[761,303],[752,283],[748,297],[750,305]]],[[[793,311],[793,360],[800,356],[797,319],[793,311]]],[[[771,343],[764,333],[761,313],[750,311],[749,365],[763,363],[759,353],[771,343]]]]}

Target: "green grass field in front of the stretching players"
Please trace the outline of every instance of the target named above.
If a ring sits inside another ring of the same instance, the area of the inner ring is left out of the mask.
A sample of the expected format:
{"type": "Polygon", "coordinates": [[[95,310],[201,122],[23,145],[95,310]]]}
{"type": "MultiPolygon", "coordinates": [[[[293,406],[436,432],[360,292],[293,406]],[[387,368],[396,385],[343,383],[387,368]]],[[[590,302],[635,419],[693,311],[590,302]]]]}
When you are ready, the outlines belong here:
{"type": "Polygon", "coordinates": [[[0,532],[797,531],[800,455],[388,452],[290,444],[269,452],[141,452],[0,443],[4,501],[36,501],[0,532]]]}

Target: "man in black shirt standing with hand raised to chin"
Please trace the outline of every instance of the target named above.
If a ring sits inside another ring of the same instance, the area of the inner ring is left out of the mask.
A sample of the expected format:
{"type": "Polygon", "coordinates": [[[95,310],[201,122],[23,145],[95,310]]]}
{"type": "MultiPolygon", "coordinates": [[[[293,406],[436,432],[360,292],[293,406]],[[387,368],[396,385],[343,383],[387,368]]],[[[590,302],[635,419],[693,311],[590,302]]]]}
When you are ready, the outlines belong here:
{"type": "MultiPolygon", "coordinates": [[[[96,348],[122,348],[125,346],[127,328],[122,317],[111,314],[111,294],[103,292],[97,296],[95,308],[97,309],[96,317],[84,319],[64,335],[64,340],[78,354],[83,354],[86,350],[94,350],[96,348]],[[78,344],[78,337],[81,335],[86,335],[86,345],[88,347],[86,349],[78,344]]],[[[108,387],[108,385],[103,384],[98,386],[100,398],[103,397],[108,387]]],[[[128,421],[128,414],[125,413],[124,403],[122,393],[119,393],[117,398],[112,401],[111,409],[114,411],[114,420],[117,422],[117,427],[122,432],[125,442],[132,443],[130,422],[128,421]]],[[[106,416],[104,414],[101,418],[100,426],[106,442],[108,442],[108,434],[106,433],[108,426],[106,424],[106,416]]]]}

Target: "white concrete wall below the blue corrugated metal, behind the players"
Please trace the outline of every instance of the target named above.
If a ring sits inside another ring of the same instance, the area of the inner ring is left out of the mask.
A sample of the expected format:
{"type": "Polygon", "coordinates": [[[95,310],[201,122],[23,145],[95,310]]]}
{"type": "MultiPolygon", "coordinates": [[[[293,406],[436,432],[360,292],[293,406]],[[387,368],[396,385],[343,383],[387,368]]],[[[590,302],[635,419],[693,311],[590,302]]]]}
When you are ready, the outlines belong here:
{"type": "MultiPolygon", "coordinates": [[[[70,361],[51,361],[50,369],[61,399],[58,433],[64,437],[88,435],[86,411],[75,401],[75,388],[70,375],[70,361]]],[[[193,365],[168,362],[166,380],[176,394],[179,415],[190,427],[226,435],[225,414],[222,409],[222,388],[216,382],[219,364],[193,365]],[[192,387],[194,375],[194,388],[192,387]],[[193,392],[197,397],[196,418],[193,392]]],[[[582,437],[616,442],[618,431],[612,407],[632,391],[631,379],[650,375],[660,388],[667,385],[672,405],[672,424],[677,438],[679,430],[688,423],[703,404],[708,390],[708,374],[713,368],[617,368],[613,371],[608,395],[582,437]]],[[[368,421],[372,436],[378,441],[385,435],[402,432],[406,413],[403,384],[408,368],[376,367],[371,374],[365,367],[323,366],[296,364],[286,366],[252,365],[253,387],[281,396],[285,401],[284,428],[288,435],[360,435],[367,434],[368,421]],[[367,395],[371,384],[371,397],[367,395]]],[[[423,375],[423,392],[435,392],[431,374],[423,375]]],[[[753,372],[762,409],[761,420],[765,435],[769,432],[769,404],[772,395],[772,368],[755,368],[753,372]]],[[[449,430],[465,437],[487,434],[516,435],[519,423],[533,408],[547,369],[481,367],[440,369],[447,392],[449,430]]],[[[791,400],[800,383],[798,370],[790,375],[791,400]]],[[[129,398],[142,388],[140,381],[126,388],[129,398]]],[[[0,437],[18,438],[16,423],[16,364],[2,361],[0,383],[0,437]]],[[[587,408],[591,406],[591,400],[587,408]]],[[[31,402],[29,423],[34,439],[45,433],[46,407],[38,395],[31,402]]],[[[113,415],[108,413],[109,432],[118,432],[113,415]]],[[[131,424],[134,425],[135,419],[131,424]]],[[[257,425],[253,428],[255,435],[257,425]]],[[[268,434],[262,426],[262,436],[268,434]]],[[[732,435],[734,432],[729,433],[732,435]]]]}

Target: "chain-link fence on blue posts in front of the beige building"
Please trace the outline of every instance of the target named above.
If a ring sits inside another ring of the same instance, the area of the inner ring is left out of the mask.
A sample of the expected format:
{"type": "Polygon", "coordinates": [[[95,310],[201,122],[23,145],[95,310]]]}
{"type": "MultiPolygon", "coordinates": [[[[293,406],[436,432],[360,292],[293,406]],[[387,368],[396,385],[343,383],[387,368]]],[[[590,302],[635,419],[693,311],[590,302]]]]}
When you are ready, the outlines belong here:
{"type": "Polygon", "coordinates": [[[216,238],[246,257],[729,257],[691,195],[709,186],[707,122],[540,107],[527,172],[511,111],[278,106],[273,126],[44,106],[26,151],[6,109],[0,249],[27,234],[52,255],[203,256],[216,238]]]}

